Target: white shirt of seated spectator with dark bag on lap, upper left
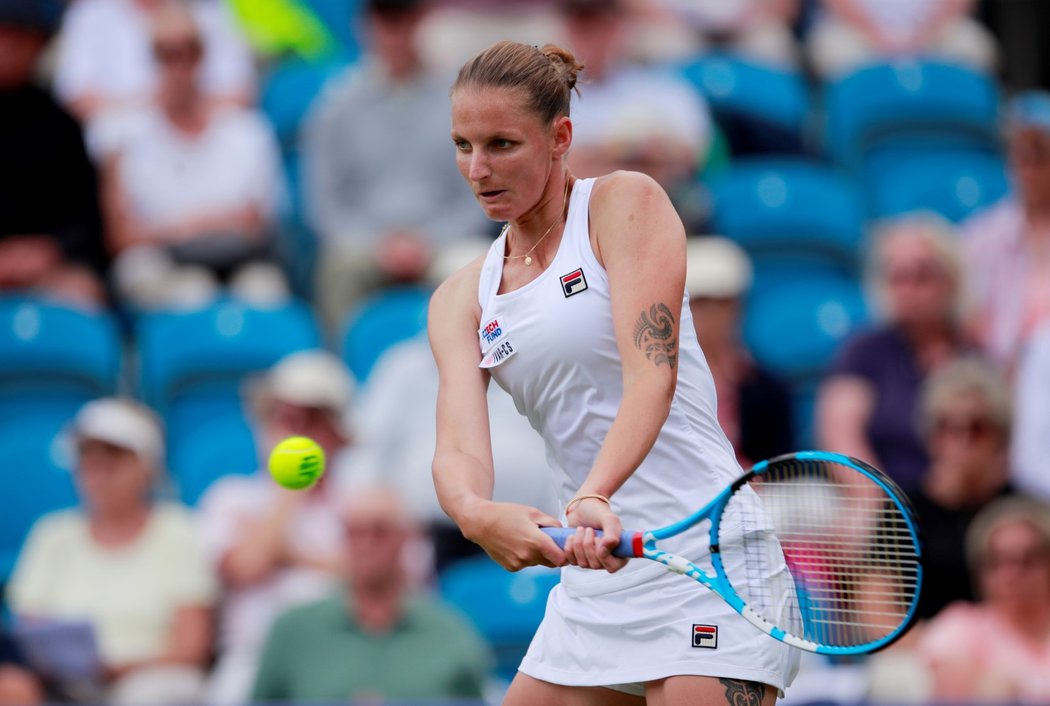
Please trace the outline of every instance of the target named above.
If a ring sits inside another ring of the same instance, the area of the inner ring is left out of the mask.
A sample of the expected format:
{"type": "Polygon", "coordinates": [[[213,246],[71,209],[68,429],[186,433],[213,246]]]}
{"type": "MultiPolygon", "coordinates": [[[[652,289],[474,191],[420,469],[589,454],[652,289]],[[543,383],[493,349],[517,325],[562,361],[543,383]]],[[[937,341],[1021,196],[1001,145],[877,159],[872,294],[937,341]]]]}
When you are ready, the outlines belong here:
{"type": "Polygon", "coordinates": [[[89,132],[102,157],[118,155],[127,204],[145,225],[164,228],[194,213],[255,207],[272,220],[284,202],[276,139],[256,112],[216,108],[189,136],[155,107],[111,115],[89,132]]]}

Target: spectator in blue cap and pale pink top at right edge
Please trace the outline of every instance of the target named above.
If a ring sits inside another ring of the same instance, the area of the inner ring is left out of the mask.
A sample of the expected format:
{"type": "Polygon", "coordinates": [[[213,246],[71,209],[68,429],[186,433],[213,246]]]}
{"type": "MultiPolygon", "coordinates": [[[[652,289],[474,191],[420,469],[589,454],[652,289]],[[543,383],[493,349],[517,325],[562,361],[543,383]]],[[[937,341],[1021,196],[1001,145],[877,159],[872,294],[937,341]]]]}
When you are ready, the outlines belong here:
{"type": "Polygon", "coordinates": [[[1050,92],[1015,97],[1006,118],[1014,193],[963,224],[975,329],[1010,367],[1050,320],[1050,92]]]}

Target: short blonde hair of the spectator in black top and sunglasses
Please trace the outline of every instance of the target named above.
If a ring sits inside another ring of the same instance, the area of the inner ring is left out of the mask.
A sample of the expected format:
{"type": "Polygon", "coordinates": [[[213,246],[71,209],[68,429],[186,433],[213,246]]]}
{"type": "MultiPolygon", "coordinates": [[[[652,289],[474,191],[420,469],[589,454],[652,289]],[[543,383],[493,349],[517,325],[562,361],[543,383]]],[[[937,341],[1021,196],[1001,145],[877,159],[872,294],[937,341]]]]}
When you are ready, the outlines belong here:
{"type": "Polygon", "coordinates": [[[1013,427],[1010,383],[1002,370],[976,356],[952,360],[926,379],[919,402],[922,433],[929,436],[938,415],[963,395],[980,397],[1004,441],[1009,438],[1013,427]]]}

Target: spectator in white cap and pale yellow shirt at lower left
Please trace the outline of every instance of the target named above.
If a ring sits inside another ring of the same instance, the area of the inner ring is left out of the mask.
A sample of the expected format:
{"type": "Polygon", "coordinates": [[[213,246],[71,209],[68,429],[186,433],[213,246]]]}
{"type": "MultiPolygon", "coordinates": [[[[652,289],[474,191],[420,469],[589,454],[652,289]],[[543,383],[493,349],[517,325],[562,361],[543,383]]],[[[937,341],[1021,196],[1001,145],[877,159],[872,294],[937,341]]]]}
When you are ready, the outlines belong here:
{"type": "Polygon", "coordinates": [[[27,628],[44,621],[93,628],[101,690],[66,698],[191,703],[211,656],[216,586],[190,516],[151,499],[161,429],[138,403],[106,398],[81,409],[72,437],[81,507],[33,527],[9,584],[12,612],[27,628]]]}

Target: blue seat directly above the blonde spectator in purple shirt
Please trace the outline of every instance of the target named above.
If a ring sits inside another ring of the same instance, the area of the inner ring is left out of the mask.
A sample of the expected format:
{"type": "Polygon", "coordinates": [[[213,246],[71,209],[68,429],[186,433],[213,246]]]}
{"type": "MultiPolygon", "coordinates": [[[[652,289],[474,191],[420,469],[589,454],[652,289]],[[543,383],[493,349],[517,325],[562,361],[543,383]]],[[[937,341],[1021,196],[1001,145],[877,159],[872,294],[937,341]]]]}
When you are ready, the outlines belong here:
{"type": "Polygon", "coordinates": [[[1003,160],[970,152],[925,154],[885,165],[866,184],[874,217],[934,211],[960,222],[1010,191],[1003,160]]]}

